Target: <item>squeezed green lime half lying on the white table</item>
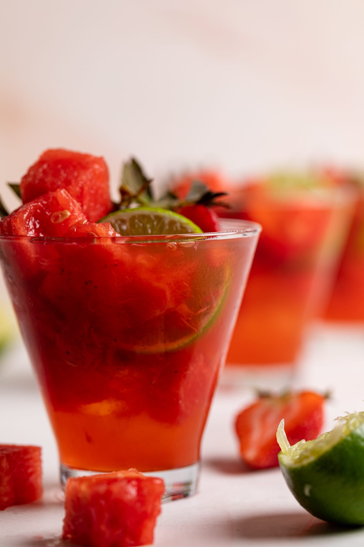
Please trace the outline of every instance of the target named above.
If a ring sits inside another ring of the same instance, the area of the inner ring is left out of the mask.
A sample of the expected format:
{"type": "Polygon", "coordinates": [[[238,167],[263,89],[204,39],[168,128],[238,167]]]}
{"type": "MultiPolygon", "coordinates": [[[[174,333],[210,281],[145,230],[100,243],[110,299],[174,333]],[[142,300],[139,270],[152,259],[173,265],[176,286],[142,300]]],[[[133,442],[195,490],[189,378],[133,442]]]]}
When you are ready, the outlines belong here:
{"type": "Polygon", "coordinates": [[[332,431],[293,446],[282,420],[279,465],[290,491],[309,513],[327,522],[364,525],[364,412],[337,420],[332,431]]]}

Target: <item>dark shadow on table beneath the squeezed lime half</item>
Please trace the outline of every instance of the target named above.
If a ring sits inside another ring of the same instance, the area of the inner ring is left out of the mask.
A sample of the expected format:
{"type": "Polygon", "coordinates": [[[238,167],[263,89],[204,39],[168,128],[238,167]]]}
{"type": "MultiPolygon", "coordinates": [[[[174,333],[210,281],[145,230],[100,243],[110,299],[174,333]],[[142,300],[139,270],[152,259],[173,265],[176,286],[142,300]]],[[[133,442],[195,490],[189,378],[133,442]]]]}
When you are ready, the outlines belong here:
{"type": "Polygon", "coordinates": [[[359,527],[344,527],[316,519],[308,513],[268,513],[243,517],[235,521],[235,535],[250,540],[301,538],[305,536],[331,536],[338,533],[355,533],[359,527]]]}

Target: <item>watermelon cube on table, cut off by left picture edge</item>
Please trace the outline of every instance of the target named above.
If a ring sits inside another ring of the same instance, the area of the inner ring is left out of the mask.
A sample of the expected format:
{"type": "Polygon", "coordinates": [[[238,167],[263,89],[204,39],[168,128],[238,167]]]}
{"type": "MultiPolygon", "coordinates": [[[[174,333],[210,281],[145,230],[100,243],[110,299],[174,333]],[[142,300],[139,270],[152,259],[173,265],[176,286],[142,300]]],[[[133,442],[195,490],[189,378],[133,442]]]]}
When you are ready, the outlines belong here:
{"type": "Polygon", "coordinates": [[[34,502],[42,492],[40,447],[0,445],[0,510],[34,502]]]}

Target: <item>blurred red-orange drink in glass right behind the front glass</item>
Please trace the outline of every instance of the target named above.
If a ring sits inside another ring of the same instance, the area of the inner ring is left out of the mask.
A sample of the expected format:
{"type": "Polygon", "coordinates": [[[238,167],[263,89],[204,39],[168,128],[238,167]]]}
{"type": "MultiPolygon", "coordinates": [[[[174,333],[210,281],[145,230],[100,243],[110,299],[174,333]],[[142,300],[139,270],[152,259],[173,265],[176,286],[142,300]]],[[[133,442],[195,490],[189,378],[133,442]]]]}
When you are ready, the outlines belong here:
{"type": "MultiPolygon", "coordinates": [[[[352,212],[334,188],[247,185],[224,217],[262,225],[228,352],[229,365],[293,369],[309,319],[328,297],[352,212]]],[[[266,369],[265,369],[266,370],[266,369]]]]}

